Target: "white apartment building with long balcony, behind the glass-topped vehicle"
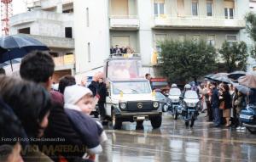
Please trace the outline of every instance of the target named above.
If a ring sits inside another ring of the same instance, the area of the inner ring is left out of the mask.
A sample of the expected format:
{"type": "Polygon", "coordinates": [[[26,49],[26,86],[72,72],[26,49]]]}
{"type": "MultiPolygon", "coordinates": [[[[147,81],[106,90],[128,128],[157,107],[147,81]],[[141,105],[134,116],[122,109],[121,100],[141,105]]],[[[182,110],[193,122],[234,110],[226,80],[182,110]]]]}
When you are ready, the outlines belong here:
{"type": "MultiPolygon", "coordinates": [[[[204,39],[215,47],[241,40],[249,0],[74,0],[76,70],[100,68],[109,48],[132,47],[151,64],[158,42],[204,39]]],[[[155,73],[155,75],[157,75],[155,73]]]]}

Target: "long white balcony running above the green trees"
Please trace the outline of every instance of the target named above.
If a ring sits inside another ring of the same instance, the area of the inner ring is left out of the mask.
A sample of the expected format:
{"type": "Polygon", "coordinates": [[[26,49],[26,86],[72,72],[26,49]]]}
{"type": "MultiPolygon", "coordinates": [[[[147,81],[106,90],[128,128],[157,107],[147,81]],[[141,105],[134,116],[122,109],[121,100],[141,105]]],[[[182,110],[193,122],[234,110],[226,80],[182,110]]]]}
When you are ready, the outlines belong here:
{"type": "Polygon", "coordinates": [[[171,17],[160,15],[154,18],[154,29],[209,29],[209,30],[240,30],[245,28],[245,21],[224,19],[224,17],[183,16],[171,17]]]}

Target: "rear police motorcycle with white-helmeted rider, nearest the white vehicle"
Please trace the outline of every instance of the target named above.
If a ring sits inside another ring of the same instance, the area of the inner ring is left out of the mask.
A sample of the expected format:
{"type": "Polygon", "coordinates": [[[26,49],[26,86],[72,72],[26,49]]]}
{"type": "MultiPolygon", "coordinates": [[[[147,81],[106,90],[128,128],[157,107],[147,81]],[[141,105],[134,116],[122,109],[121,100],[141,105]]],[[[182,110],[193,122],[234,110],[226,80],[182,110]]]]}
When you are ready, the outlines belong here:
{"type": "Polygon", "coordinates": [[[168,109],[169,114],[174,117],[174,120],[177,120],[178,115],[181,115],[182,107],[180,106],[179,97],[181,95],[181,91],[177,88],[176,84],[172,84],[172,88],[170,89],[168,98],[171,99],[171,106],[168,109]]]}

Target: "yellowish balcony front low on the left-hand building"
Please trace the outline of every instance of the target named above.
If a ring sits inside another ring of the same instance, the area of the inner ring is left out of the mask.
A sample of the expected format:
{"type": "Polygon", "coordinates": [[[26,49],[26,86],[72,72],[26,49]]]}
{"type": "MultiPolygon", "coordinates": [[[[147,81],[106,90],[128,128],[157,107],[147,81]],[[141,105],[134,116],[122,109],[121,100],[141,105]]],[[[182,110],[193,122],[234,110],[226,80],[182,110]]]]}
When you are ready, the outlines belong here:
{"type": "Polygon", "coordinates": [[[67,70],[74,68],[74,55],[68,54],[53,58],[55,62],[55,70],[67,70]]]}

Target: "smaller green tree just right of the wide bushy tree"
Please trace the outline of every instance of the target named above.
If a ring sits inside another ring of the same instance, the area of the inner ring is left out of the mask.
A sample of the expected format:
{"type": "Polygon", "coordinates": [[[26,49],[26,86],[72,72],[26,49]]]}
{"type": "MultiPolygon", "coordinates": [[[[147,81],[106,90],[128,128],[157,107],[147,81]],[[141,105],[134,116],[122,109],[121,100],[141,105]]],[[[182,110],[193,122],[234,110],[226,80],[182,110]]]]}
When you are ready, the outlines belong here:
{"type": "Polygon", "coordinates": [[[221,58],[224,59],[226,70],[246,70],[247,65],[247,44],[245,42],[224,42],[219,49],[221,58]]]}

